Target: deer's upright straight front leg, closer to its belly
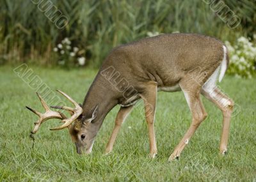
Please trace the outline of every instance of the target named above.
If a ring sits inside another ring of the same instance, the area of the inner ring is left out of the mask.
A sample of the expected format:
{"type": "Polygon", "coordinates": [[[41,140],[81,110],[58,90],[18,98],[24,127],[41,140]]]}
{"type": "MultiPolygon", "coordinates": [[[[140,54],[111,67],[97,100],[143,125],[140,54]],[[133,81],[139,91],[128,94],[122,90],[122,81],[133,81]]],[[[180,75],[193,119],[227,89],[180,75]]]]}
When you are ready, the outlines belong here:
{"type": "Polygon", "coordinates": [[[156,112],[157,85],[155,82],[147,86],[147,90],[141,94],[145,104],[145,116],[148,125],[148,137],[150,142],[150,157],[155,158],[157,155],[156,137],[154,131],[154,120],[156,112]]]}

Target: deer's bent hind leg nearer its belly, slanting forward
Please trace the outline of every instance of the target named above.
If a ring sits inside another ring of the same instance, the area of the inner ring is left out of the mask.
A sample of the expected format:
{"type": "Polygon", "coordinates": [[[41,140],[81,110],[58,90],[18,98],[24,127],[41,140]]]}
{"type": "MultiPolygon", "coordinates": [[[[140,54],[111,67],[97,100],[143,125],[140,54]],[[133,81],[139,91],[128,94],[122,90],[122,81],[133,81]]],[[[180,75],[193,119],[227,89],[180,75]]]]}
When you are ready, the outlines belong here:
{"type": "MultiPolygon", "coordinates": [[[[181,84],[180,87],[182,87],[181,84]]],[[[194,90],[189,90],[189,87],[193,88],[192,86],[187,86],[186,88],[182,87],[182,91],[184,92],[186,101],[189,105],[189,109],[192,113],[192,123],[184,137],[180,140],[179,144],[174,149],[172,155],[169,158],[169,161],[179,159],[180,153],[188,144],[200,123],[202,123],[202,121],[204,121],[204,119],[207,117],[204,105],[200,99],[200,88],[198,87],[196,89],[194,88],[194,90]]]]}

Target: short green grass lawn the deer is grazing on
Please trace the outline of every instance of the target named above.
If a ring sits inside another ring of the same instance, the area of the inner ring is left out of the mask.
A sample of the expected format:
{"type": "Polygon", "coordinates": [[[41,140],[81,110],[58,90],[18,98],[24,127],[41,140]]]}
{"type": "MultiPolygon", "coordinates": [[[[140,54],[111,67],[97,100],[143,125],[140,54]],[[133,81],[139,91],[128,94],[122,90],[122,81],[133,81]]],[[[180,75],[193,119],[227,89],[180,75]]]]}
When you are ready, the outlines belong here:
{"type": "MultiPolygon", "coordinates": [[[[61,89],[83,102],[96,71],[33,67],[36,75],[54,91],[61,89]]],[[[148,157],[147,125],[139,105],[127,118],[113,153],[104,156],[118,107],[105,119],[92,155],[79,156],[67,130],[49,131],[56,120],[42,125],[35,135],[29,132],[35,114],[43,111],[35,91],[10,66],[0,68],[0,181],[255,181],[256,123],[255,78],[226,76],[220,87],[241,107],[232,118],[229,150],[220,156],[221,112],[204,99],[208,118],[198,128],[180,160],[168,157],[191,123],[182,93],[159,93],[156,112],[158,156],[148,157]],[[131,128],[129,128],[131,126],[131,128]]],[[[61,97],[63,98],[63,97],[61,97]]],[[[63,98],[65,100],[65,98],[63,98]]]]}

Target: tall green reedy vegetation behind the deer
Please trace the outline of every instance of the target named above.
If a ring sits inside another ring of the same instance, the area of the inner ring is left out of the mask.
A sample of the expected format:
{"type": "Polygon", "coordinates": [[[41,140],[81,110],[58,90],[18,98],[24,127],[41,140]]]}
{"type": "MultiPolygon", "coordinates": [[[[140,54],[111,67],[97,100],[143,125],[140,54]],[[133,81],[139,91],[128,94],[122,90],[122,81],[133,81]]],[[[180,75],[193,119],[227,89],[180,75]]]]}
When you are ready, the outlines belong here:
{"type": "Polygon", "coordinates": [[[61,30],[31,1],[0,0],[0,63],[54,65],[58,57],[52,50],[65,37],[84,50],[83,56],[94,67],[113,47],[148,32],[202,33],[231,43],[240,36],[252,39],[256,2],[224,2],[241,19],[236,29],[230,29],[202,0],[52,0],[69,20],[61,30]]]}

